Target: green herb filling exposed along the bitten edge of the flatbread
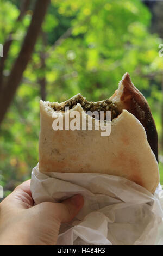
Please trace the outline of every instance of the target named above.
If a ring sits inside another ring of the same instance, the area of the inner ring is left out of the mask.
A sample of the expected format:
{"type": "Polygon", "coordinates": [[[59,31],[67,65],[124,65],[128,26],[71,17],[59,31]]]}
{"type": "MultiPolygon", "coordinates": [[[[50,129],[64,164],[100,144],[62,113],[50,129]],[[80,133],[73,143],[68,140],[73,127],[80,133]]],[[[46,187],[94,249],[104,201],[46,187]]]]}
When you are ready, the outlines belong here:
{"type": "Polygon", "coordinates": [[[81,94],[77,94],[76,96],[72,97],[71,99],[62,102],[60,104],[53,103],[51,104],[51,107],[55,111],[65,111],[65,107],[68,107],[69,109],[72,109],[74,106],[77,105],[77,103],[80,103],[84,111],[104,111],[105,112],[105,118],[106,118],[106,111],[111,112],[111,120],[116,118],[120,111],[118,111],[118,108],[115,103],[112,103],[111,100],[106,99],[103,101],[87,101],[81,94]]]}

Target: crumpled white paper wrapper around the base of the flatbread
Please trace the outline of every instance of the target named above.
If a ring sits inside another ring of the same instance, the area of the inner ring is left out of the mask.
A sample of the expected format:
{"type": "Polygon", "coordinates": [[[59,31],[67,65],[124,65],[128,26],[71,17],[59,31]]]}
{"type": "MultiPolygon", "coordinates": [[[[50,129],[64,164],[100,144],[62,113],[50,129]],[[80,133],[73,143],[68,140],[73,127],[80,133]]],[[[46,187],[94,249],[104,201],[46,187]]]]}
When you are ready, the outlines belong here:
{"type": "MultiPolygon", "coordinates": [[[[93,173],[40,173],[33,168],[35,204],[82,194],[76,218],[61,224],[57,245],[154,245],[163,243],[161,187],[155,194],[127,179],[93,173]],[[158,231],[159,227],[159,231],[158,231]]],[[[163,196],[162,196],[163,197],[163,196]]]]}

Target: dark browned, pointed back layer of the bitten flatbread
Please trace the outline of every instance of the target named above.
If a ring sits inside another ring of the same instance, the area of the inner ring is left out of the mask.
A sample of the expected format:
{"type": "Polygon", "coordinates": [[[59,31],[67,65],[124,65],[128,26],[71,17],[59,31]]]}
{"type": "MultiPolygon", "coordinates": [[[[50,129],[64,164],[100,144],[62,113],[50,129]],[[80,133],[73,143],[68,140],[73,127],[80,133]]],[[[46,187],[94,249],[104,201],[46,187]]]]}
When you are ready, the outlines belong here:
{"type": "Polygon", "coordinates": [[[159,162],[158,133],[151,109],[149,108],[145,97],[131,82],[131,78],[128,73],[124,74],[122,81],[120,81],[118,90],[116,90],[115,94],[110,97],[110,100],[115,100],[121,111],[122,109],[127,109],[140,121],[146,130],[148,143],[155,154],[156,160],[159,162]]]}

